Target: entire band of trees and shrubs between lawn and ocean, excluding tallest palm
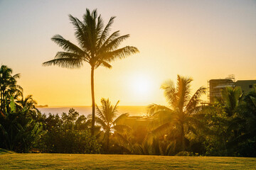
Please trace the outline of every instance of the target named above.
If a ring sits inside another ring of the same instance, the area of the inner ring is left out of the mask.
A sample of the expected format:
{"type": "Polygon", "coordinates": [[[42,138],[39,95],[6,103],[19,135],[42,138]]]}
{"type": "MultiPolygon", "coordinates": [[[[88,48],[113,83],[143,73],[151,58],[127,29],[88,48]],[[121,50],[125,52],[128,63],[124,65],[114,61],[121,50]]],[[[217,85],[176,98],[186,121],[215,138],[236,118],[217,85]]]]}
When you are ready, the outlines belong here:
{"type": "Polygon", "coordinates": [[[256,89],[223,89],[215,103],[203,106],[201,87],[191,95],[192,79],[178,76],[177,84],[161,86],[169,106],[149,106],[147,122],[129,122],[118,115],[118,103],[102,98],[92,115],[74,109],[62,115],[41,114],[32,96],[23,96],[19,74],[0,68],[0,148],[15,152],[80,154],[155,154],[256,157],[256,89]]]}

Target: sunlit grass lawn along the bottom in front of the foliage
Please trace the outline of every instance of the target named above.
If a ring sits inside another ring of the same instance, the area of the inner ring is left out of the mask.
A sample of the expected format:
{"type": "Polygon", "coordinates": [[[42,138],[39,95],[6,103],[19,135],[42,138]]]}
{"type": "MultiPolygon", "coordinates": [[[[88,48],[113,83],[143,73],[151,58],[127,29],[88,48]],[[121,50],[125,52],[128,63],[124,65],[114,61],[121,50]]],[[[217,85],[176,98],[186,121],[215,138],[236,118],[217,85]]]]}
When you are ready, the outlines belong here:
{"type": "Polygon", "coordinates": [[[2,154],[0,169],[256,169],[256,158],[2,154]]]}

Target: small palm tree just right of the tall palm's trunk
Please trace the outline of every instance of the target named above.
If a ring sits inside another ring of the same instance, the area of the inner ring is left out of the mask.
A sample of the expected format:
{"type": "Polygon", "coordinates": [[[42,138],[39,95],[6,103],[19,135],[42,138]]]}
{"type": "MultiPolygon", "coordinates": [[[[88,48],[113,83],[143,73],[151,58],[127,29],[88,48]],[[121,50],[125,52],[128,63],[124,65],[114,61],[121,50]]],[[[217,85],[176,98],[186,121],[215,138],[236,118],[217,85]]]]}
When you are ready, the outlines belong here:
{"type": "Polygon", "coordinates": [[[96,122],[99,123],[103,130],[105,131],[104,138],[107,140],[107,152],[109,149],[110,144],[110,133],[114,130],[123,130],[124,128],[129,128],[127,125],[117,125],[119,120],[122,120],[124,118],[127,118],[128,113],[123,113],[122,115],[119,115],[117,117],[117,105],[119,101],[115,104],[115,106],[112,106],[110,103],[110,100],[107,98],[102,98],[102,109],[96,105],[97,108],[97,118],[96,122]],[[117,117],[117,118],[116,118],[117,117]]]}

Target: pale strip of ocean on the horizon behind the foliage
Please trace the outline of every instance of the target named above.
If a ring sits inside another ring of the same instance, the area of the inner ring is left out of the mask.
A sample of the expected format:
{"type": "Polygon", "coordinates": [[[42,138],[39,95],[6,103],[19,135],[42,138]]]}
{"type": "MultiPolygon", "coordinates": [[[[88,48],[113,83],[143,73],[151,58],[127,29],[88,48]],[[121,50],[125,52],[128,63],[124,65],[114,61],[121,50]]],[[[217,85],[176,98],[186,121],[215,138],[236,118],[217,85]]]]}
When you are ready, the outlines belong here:
{"type": "MultiPolygon", "coordinates": [[[[61,115],[68,113],[70,108],[74,108],[80,115],[90,115],[92,113],[91,106],[50,106],[48,108],[38,108],[41,113],[49,113],[61,115]]],[[[146,115],[147,106],[118,106],[117,113],[129,113],[130,116],[144,116],[146,115]]]]}

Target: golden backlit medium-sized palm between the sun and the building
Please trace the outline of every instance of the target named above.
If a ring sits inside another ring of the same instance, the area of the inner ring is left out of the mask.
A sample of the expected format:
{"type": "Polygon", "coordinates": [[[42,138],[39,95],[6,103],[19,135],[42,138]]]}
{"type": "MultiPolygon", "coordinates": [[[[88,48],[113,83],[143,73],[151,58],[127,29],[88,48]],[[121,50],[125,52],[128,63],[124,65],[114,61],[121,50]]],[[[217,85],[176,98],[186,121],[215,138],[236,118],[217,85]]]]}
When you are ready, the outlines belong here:
{"type": "Polygon", "coordinates": [[[156,118],[153,123],[157,126],[151,133],[167,134],[165,138],[173,140],[176,145],[181,145],[183,151],[186,149],[188,135],[196,131],[193,125],[199,125],[195,115],[199,109],[201,95],[206,94],[206,88],[201,86],[191,96],[191,81],[193,79],[179,75],[176,86],[173,81],[166,81],[161,89],[164,89],[164,95],[170,107],[156,104],[149,106],[149,113],[156,118]]]}

